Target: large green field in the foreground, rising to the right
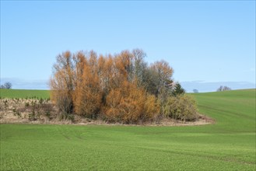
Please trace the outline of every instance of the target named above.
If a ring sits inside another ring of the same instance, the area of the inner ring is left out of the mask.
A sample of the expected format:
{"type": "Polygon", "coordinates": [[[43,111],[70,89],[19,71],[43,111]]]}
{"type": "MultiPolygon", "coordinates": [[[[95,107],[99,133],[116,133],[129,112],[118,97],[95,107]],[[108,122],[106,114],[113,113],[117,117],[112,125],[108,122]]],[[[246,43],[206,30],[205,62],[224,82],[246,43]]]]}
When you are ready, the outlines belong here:
{"type": "Polygon", "coordinates": [[[216,124],[1,124],[1,170],[255,170],[255,89],[194,94],[216,124]]]}

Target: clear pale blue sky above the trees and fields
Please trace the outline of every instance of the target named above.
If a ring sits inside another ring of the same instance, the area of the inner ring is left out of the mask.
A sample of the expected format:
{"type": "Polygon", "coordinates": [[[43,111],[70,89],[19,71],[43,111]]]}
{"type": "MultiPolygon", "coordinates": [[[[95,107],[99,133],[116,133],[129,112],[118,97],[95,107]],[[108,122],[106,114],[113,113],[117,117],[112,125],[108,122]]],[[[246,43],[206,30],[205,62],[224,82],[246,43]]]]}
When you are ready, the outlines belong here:
{"type": "Polygon", "coordinates": [[[1,1],[0,79],[13,89],[48,89],[63,51],[134,48],[188,92],[255,88],[255,1],[1,1]]]}

